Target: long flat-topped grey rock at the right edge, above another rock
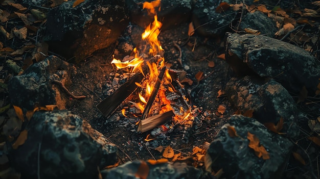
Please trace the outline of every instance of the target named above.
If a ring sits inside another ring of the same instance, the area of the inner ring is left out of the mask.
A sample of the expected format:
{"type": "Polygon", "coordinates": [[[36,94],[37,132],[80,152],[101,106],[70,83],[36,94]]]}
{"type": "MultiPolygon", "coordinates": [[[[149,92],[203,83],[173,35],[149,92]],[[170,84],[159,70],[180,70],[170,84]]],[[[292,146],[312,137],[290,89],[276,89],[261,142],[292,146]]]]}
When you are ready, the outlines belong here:
{"type": "Polygon", "coordinates": [[[227,33],[225,59],[237,75],[273,78],[293,93],[304,86],[310,95],[318,90],[320,61],[292,44],[262,35],[227,33]]]}

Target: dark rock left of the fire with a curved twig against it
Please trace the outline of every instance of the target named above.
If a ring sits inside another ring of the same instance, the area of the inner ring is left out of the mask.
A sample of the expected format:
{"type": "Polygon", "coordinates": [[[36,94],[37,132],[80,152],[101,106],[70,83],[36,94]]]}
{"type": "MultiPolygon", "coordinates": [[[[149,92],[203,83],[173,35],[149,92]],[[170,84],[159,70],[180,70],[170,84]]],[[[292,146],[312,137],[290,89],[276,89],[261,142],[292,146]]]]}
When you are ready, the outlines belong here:
{"type": "Polygon", "coordinates": [[[21,75],[13,76],[8,82],[11,104],[21,108],[24,113],[35,107],[58,105],[65,109],[66,97],[60,95],[60,88],[53,85],[54,80],[70,85],[70,77],[76,68],[56,56],[32,64],[21,75]]]}

